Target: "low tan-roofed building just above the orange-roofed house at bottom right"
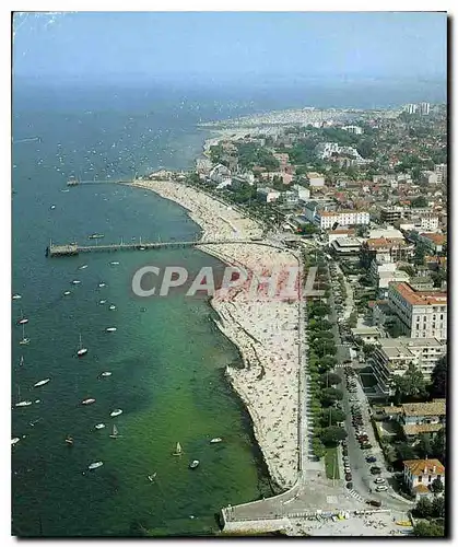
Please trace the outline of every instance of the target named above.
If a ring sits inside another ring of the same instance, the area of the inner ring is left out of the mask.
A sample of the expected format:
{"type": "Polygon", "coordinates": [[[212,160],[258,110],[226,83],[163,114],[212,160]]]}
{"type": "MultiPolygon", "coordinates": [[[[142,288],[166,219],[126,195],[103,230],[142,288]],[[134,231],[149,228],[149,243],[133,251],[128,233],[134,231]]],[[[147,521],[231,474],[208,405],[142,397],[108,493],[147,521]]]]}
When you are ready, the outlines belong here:
{"type": "Polygon", "coordinates": [[[397,420],[407,441],[414,441],[418,435],[435,437],[444,429],[446,421],[446,400],[433,399],[431,403],[408,403],[399,407],[384,408],[384,415],[397,420]]]}

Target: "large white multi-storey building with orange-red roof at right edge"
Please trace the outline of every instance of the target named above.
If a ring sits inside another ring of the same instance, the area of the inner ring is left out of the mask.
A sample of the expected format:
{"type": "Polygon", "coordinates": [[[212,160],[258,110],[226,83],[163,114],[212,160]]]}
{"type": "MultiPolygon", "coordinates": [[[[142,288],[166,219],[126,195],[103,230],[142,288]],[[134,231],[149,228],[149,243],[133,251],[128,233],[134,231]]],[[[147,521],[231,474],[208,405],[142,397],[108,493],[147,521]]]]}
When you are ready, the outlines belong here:
{"type": "Polygon", "coordinates": [[[446,292],[415,291],[408,283],[391,283],[388,304],[407,336],[447,339],[446,292]]]}

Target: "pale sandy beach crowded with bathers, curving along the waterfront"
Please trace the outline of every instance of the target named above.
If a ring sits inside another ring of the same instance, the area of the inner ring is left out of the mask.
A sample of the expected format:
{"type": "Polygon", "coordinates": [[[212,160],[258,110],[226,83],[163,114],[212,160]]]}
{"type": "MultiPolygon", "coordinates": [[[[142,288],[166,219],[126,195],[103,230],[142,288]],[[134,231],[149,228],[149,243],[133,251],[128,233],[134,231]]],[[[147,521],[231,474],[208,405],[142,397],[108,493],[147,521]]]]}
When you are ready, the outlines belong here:
{"type": "MultiPolygon", "coordinates": [[[[138,181],[132,186],[153,190],[185,207],[202,228],[202,241],[244,240],[262,233],[260,225],[237,210],[179,183],[138,181]]],[[[297,267],[292,253],[263,245],[199,248],[231,266],[246,268],[255,279],[274,268],[284,272],[290,266],[297,267]]],[[[227,368],[226,376],[251,416],[272,480],[289,488],[297,477],[298,305],[293,300],[267,298],[267,288],[254,293],[233,288],[223,298],[216,291],[212,306],[220,316],[219,328],[243,356],[244,368],[227,368]]]]}

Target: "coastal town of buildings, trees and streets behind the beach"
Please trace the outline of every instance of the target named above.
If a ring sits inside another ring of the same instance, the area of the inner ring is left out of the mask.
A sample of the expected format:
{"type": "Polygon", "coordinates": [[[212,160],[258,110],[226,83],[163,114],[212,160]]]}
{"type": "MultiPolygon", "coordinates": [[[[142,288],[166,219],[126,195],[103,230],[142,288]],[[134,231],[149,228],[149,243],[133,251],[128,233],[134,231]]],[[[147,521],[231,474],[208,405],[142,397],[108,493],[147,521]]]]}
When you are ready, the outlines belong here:
{"type": "Polygon", "coordinates": [[[414,535],[444,535],[446,106],[307,108],[212,129],[196,170],[174,176],[300,249],[305,277],[316,270],[310,457],[368,505],[406,502],[411,521],[397,524],[414,535]]]}

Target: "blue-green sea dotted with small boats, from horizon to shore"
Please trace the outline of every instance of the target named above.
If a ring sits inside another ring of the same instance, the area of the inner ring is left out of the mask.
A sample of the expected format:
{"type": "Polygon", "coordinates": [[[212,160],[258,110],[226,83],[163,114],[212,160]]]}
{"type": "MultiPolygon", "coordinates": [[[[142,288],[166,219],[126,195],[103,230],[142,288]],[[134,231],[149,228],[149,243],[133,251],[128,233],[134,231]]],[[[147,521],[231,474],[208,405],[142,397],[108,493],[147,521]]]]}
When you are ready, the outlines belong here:
{"type": "Polygon", "coordinates": [[[11,437],[20,438],[11,459],[12,534],[213,535],[221,508],[272,493],[249,416],[224,377],[240,356],[215,327],[209,302],[183,293],[139,299],[131,290],[145,265],[223,265],[195,248],[49,258],[46,247],[95,243],[93,233],[104,234],[99,243],[198,237],[200,228],[178,205],[109,181],[191,167],[209,136],[199,121],[376,106],[365,93],[350,102],[336,88],[314,93],[296,89],[286,100],[266,90],[13,79],[11,293],[22,298],[11,314],[11,437]],[[68,187],[71,178],[99,183],[68,187]],[[21,317],[28,318],[24,331],[21,317]],[[28,345],[20,345],[23,336],[28,345]],[[80,337],[89,351],[79,359],[80,337]],[[86,398],[95,403],[81,405],[86,398]],[[19,400],[32,405],[16,407],[19,400]],[[114,409],[122,414],[113,418],[114,409]],[[216,437],[223,441],[211,444],[216,437]],[[177,442],[181,456],[173,455],[177,442]],[[200,465],[191,470],[192,459],[200,465]],[[103,466],[90,472],[94,462],[103,466]]]}

